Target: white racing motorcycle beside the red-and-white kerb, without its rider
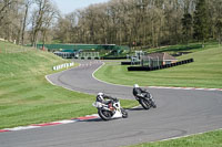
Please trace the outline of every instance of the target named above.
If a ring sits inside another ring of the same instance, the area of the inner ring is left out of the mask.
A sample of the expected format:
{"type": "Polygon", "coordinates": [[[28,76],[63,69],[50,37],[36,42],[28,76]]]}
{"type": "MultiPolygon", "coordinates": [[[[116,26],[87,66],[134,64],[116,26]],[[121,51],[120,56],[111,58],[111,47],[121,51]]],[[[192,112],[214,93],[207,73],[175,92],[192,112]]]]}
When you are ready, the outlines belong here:
{"type": "Polygon", "coordinates": [[[115,99],[113,101],[113,103],[110,104],[94,102],[92,106],[98,108],[98,114],[103,120],[110,120],[111,118],[128,117],[128,112],[121,107],[119,99],[115,99]]]}

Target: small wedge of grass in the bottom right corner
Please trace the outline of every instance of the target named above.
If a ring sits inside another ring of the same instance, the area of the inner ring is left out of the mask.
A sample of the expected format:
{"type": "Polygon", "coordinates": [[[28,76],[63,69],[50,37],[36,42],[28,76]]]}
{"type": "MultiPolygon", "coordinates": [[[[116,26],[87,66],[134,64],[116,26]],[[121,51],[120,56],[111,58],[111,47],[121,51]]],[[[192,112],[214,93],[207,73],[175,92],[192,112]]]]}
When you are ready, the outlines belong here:
{"type": "Polygon", "coordinates": [[[130,147],[222,147],[222,130],[193,135],[174,140],[145,143],[130,147]]]}

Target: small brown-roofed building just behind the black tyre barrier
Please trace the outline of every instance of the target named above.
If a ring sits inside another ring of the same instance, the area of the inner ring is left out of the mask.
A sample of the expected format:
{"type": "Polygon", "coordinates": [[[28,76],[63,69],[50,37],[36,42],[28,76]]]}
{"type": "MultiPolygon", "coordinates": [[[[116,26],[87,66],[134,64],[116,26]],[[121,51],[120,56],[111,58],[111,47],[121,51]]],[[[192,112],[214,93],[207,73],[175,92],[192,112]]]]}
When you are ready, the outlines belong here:
{"type": "Polygon", "coordinates": [[[142,66],[160,66],[165,64],[175,63],[178,60],[168,53],[151,53],[142,56],[142,66]]]}

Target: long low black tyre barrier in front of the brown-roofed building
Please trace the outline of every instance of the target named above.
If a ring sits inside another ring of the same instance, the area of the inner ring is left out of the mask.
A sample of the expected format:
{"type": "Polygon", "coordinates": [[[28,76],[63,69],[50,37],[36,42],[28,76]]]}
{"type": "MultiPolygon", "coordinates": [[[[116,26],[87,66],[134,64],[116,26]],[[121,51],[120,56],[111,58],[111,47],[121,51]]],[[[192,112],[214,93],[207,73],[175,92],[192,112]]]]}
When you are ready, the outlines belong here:
{"type": "Polygon", "coordinates": [[[192,63],[192,62],[194,62],[194,60],[193,59],[189,59],[189,60],[180,61],[180,62],[176,62],[176,63],[171,63],[171,64],[167,64],[167,65],[160,65],[160,66],[155,66],[155,67],[129,66],[128,71],[157,71],[157,70],[173,67],[173,66],[183,65],[183,64],[188,64],[188,63],[192,63]]]}

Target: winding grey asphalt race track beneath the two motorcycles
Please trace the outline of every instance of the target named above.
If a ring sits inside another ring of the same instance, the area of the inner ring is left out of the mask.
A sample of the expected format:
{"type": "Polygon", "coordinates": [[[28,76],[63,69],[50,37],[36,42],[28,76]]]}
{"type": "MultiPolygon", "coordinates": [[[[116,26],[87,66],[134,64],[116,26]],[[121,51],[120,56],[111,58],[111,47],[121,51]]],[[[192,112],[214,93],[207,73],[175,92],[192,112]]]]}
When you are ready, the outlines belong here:
{"type": "MultiPolygon", "coordinates": [[[[132,87],[110,85],[92,77],[102,65],[83,62],[79,67],[48,78],[78,92],[104,92],[132,98],[132,87]]],[[[0,134],[1,147],[115,147],[181,137],[222,128],[222,92],[149,90],[158,108],[129,109],[129,118],[103,122],[91,119],[67,125],[0,134]]]]}

